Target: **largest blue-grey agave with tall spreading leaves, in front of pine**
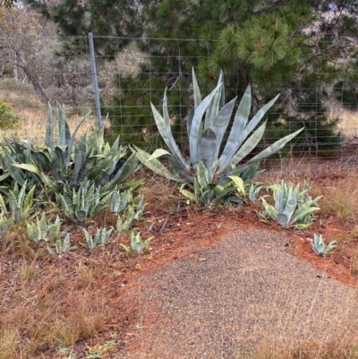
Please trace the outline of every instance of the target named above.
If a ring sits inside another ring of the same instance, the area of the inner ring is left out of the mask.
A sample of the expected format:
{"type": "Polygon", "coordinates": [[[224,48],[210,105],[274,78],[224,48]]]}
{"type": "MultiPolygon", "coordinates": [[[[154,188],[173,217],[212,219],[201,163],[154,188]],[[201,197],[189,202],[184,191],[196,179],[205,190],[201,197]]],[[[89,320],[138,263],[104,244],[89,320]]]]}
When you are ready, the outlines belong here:
{"type": "MultiPolygon", "coordinates": [[[[193,184],[192,187],[205,186],[201,193],[205,198],[205,204],[207,204],[208,199],[222,198],[222,192],[228,193],[232,191],[232,187],[227,189],[227,187],[223,186],[232,183],[234,181],[233,176],[243,178],[245,171],[246,173],[251,171],[251,176],[255,175],[252,167],[255,167],[260,160],[268,158],[268,156],[281,150],[302,129],[280,139],[256,156],[240,164],[260,142],[265,132],[266,122],[258,128],[257,125],[268,111],[268,108],[275,103],[278,95],[262,107],[249,121],[251,111],[251,86],[249,85],[234,115],[234,122],[226,145],[220,151],[227,126],[234,111],[236,98],[225,104],[222,73],[215,90],[203,99],[201,99],[194,71],[192,71],[192,81],[194,108],[189,113],[187,121],[189,160],[183,157],[172,135],[166,92],[163,98],[163,116],[158,113],[153,104],[151,104],[151,107],[158,131],[166,142],[167,150],[158,149],[152,155],[138,147],[135,147],[135,150],[137,158],[158,175],[163,175],[175,182],[193,184]],[[175,172],[169,171],[158,161],[161,156],[167,158],[175,172]],[[215,186],[211,186],[211,184],[215,184],[215,186]]],[[[235,187],[236,185],[234,185],[235,187]]]]}

